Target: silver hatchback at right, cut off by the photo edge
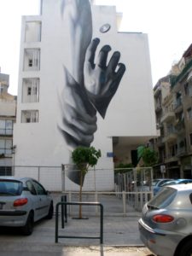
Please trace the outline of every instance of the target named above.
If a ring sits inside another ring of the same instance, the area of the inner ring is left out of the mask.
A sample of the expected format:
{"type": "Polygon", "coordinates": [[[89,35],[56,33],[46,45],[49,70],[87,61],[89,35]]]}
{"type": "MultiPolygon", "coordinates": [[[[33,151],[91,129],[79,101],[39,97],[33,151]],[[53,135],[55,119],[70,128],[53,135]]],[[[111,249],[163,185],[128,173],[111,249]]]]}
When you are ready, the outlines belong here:
{"type": "Polygon", "coordinates": [[[192,184],[164,187],[138,221],[144,245],[159,256],[192,255],[192,184]]]}

